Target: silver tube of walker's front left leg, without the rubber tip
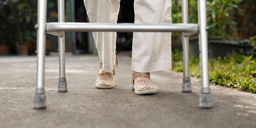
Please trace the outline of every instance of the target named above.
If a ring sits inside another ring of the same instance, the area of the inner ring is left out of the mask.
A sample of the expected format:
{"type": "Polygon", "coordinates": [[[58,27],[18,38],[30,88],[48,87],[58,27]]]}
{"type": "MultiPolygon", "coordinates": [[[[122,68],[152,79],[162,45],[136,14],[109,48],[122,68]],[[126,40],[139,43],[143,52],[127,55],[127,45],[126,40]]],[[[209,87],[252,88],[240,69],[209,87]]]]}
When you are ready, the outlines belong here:
{"type": "Polygon", "coordinates": [[[44,88],[44,58],[45,58],[45,23],[46,23],[46,0],[38,0],[37,10],[37,82],[36,88],[44,88]]]}

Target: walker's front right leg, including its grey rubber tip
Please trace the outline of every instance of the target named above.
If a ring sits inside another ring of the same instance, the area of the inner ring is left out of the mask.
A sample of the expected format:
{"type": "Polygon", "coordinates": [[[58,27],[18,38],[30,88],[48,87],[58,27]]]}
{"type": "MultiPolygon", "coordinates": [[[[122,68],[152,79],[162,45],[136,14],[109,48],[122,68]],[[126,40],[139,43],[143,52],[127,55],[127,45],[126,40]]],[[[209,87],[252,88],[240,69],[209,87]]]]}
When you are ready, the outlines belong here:
{"type": "Polygon", "coordinates": [[[198,0],[199,51],[202,88],[199,95],[200,108],[212,108],[212,94],[209,87],[208,40],[206,22],[206,0],[198,0]]]}

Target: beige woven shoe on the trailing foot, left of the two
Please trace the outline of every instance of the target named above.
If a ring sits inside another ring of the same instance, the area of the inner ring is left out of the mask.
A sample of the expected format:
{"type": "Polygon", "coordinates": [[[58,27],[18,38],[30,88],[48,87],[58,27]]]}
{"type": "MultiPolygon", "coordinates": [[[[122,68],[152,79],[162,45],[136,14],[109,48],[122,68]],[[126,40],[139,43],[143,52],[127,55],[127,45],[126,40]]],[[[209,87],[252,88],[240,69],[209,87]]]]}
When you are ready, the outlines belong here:
{"type": "MultiPolygon", "coordinates": [[[[100,89],[109,89],[113,88],[115,85],[115,71],[118,66],[119,60],[116,56],[116,64],[114,65],[114,75],[112,74],[101,74],[98,75],[98,78],[95,82],[97,88],[100,89]]],[[[102,69],[102,63],[100,63],[100,69],[102,69]]]]}

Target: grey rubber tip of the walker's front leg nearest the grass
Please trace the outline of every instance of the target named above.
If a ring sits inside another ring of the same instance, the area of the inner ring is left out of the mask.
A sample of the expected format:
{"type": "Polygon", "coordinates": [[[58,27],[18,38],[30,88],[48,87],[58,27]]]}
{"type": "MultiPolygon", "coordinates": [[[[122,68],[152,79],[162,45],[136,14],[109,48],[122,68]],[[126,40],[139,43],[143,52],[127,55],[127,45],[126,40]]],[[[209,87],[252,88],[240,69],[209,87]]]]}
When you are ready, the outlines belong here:
{"type": "Polygon", "coordinates": [[[212,94],[201,93],[199,95],[199,107],[200,108],[212,108],[212,94]]]}

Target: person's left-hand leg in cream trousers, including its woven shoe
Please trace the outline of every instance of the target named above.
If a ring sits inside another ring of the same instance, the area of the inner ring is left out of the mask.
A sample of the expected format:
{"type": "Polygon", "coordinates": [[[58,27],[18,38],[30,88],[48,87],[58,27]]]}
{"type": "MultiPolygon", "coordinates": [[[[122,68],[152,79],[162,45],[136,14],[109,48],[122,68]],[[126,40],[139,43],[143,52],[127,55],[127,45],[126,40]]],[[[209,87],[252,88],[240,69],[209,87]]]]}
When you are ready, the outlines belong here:
{"type": "MultiPolygon", "coordinates": [[[[120,0],[84,0],[90,23],[116,23],[120,0]]],[[[115,84],[116,32],[92,32],[100,57],[97,88],[112,88],[115,84]]]]}

